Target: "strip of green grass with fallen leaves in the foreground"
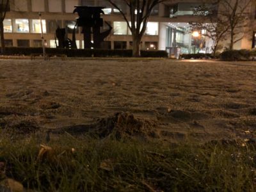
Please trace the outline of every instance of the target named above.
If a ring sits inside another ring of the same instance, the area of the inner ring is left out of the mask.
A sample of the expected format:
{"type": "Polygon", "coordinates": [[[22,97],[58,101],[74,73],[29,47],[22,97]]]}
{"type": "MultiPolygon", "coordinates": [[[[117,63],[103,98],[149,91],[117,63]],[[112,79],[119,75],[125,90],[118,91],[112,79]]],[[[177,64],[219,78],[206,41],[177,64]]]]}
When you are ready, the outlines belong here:
{"type": "Polygon", "coordinates": [[[38,191],[255,191],[255,144],[177,145],[67,134],[47,146],[52,149],[38,156],[35,138],[1,137],[7,177],[38,191]]]}

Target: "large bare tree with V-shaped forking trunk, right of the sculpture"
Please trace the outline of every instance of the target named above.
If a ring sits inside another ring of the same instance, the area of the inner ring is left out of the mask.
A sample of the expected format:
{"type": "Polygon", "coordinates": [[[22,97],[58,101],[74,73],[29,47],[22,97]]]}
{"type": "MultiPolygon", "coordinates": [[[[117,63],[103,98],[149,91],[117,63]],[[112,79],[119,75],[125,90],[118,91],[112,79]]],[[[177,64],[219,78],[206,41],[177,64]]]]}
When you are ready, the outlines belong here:
{"type": "Polygon", "coordinates": [[[132,34],[132,56],[140,56],[141,38],[147,29],[148,18],[154,6],[166,0],[118,0],[129,7],[129,14],[125,15],[123,10],[114,0],[106,0],[115,7],[124,17],[132,34]],[[130,18],[129,18],[130,17],[130,18]]]}

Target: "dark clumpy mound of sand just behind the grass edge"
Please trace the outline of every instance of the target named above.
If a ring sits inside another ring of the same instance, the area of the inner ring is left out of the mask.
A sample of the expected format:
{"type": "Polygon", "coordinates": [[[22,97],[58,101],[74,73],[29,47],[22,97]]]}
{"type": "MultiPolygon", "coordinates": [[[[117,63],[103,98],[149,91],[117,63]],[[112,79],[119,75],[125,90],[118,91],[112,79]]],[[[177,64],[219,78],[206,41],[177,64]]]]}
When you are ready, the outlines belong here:
{"type": "Polygon", "coordinates": [[[74,136],[89,134],[96,138],[122,138],[139,137],[159,138],[156,133],[157,122],[136,118],[132,113],[115,113],[114,115],[99,118],[97,122],[86,125],[70,125],[49,130],[52,134],[63,134],[68,132],[74,136]]]}

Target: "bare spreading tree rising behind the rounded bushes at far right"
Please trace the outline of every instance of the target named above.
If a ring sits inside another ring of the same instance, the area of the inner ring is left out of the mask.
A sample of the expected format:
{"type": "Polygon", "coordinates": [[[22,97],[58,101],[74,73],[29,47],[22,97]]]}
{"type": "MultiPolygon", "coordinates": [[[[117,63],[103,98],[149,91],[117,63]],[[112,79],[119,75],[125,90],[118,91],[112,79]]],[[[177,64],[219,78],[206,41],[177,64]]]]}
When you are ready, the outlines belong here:
{"type": "Polygon", "coordinates": [[[219,18],[228,26],[230,37],[228,49],[234,49],[234,44],[243,38],[244,27],[250,17],[252,0],[219,0],[219,18]]]}

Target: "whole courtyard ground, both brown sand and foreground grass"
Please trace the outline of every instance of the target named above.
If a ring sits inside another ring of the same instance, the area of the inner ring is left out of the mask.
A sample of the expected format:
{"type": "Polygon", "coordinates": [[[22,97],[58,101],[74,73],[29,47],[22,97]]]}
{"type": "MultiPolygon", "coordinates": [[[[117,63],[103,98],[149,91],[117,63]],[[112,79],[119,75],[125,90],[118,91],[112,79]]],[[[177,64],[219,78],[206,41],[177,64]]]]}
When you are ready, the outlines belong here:
{"type": "Polygon", "coordinates": [[[0,191],[255,191],[255,80],[255,62],[1,60],[0,191]]]}

